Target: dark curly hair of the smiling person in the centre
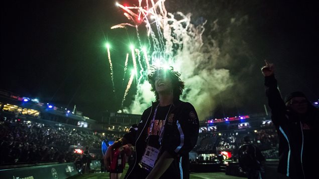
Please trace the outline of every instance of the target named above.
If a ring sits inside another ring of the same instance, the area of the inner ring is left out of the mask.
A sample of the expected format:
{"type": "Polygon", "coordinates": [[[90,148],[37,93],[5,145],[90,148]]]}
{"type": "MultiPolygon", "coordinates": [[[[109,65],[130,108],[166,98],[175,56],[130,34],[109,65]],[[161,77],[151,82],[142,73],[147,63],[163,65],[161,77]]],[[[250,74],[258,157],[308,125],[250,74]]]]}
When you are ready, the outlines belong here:
{"type": "Polygon", "coordinates": [[[179,99],[179,96],[183,93],[185,85],[184,82],[179,78],[180,74],[177,71],[174,71],[173,67],[169,67],[169,69],[166,70],[161,67],[152,66],[150,71],[151,72],[148,75],[148,81],[152,86],[151,91],[154,92],[156,101],[159,100],[159,95],[155,89],[155,80],[159,72],[164,72],[165,75],[168,75],[168,77],[172,80],[174,100],[179,99]]]}

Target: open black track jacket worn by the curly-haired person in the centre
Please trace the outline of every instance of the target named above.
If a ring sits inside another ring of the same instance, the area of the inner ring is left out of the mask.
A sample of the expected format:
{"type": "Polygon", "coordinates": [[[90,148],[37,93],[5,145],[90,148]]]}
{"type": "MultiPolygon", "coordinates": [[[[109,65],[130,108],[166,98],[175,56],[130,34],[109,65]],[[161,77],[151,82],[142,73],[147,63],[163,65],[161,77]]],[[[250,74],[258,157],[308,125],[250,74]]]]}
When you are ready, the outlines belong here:
{"type": "MultiPolygon", "coordinates": [[[[130,166],[125,178],[141,179],[147,175],[146,170],[139,167],[139,162],[146,147],[147,128],[152,120],[154,110],[159,101],[142,114],[142,120],[138,124],[136,135],[127,133],[124,135],[128,141],[135,145],[135,162],[130,166]]],[[[164,172],[161,178],[189,178],[188,153],[196,145],[198,138],[199,122],[194,107],[188,102],[175,100],[165,121],[164,136],[161,151],[168,151],[174,156],[174,161],[164,172]]]]}

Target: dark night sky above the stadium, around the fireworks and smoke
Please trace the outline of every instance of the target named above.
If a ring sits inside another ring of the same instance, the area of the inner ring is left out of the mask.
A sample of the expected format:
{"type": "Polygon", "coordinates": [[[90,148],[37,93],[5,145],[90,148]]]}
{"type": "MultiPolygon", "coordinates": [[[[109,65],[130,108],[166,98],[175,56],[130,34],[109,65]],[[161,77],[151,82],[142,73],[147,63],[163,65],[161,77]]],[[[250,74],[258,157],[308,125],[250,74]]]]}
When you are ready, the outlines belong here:
{"type": "MultiPolygon", "coordinates": [[[[134,28],[110,29],[129,22],[115,2],[2,1],[0,89],[57,107],[76,105],[97,120],[103,111],[118,111],[127,85],[122,81],[125,56],[137,36],[134,28]],[[115,92],[104,47],[107,41],[112,46],[115,92]]],[[[118,2],[138,4],[137,0],[118,2]]],[[[234,85],[207,99],[215,101],[212,117],[264,112],[267,99],[260,72],[264,59],[275,64],[282,95],[298,90],[310,101],[318,100],[315,1],[166,0],[165,6],[168,12],[191,13],[194,24],[207,20],[203,41],[215,39],[221,57],[231,57],[216,63],[217,69],[230,71],[234,85]],[[232,18],[240,23],[231,24],[232,18]],[[212,30],[214,24],[218,30],[212,30]]],[[[133,86],[125,106],[135,91],[133,86]]]]}

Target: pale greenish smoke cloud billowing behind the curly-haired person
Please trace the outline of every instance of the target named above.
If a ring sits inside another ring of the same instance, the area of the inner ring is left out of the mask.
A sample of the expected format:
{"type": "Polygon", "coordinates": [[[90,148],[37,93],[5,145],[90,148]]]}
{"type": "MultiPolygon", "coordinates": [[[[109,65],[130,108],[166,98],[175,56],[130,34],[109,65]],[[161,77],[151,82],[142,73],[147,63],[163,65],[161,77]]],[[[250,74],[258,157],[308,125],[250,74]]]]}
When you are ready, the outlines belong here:
{"type": "MultiPolygon", "coordinates": [[[[162,21],[158,22],[155,30],[148,29],[151,34],[149,38],[154,42],[151,61],[154,63],[158,60],[159,53],[164,54],[162,56],[166,57],[165,63],[173,66],[185,82],[181,99],[193,104],[199,119],[204,120],[211,116],[212,109],[215,108],[216,103],[212,98],[233,85],[230,71],[217,68],[218,61],[228,60],[229,56],[221,57],[218,41],[213,38],[203,41],[206,21],[193,25],[191,14],[184,15],[181,12],[167,13],[167,17],[161,18],[162,21]],[[159,26],[162,27],[161,30],[159,26]],[[164,43],[162,46],[161,42],[164,43]],[[155,50],[163,47],[164,52],[155,50]]],[[[217,23],[214,23],[213,29],[218,29],[217,23]]],[[[146,76],[137,88],[134,101],[124,112],[141,114],[151,105],[150,101],[154,100],[146,76]]]]}

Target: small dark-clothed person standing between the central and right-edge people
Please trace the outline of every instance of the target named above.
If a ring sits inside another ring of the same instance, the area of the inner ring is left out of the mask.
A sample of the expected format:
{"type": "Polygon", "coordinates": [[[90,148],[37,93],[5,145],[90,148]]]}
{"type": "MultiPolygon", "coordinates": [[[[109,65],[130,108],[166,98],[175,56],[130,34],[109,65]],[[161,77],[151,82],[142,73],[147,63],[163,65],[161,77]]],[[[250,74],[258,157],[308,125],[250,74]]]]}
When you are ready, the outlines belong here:
{"type": "Polygon", "coordinates": [[[238,150],[240,169],[246,172],[248,179],[261,178],[261,170],[266,159],[260,149],[251,143],[249,135],[244,137],[244,142],[238,150]]]}

